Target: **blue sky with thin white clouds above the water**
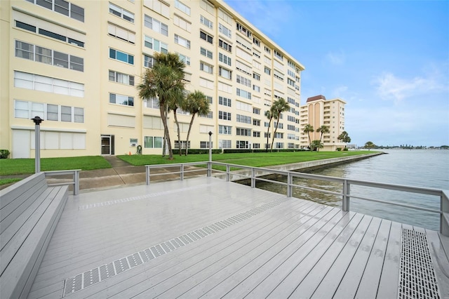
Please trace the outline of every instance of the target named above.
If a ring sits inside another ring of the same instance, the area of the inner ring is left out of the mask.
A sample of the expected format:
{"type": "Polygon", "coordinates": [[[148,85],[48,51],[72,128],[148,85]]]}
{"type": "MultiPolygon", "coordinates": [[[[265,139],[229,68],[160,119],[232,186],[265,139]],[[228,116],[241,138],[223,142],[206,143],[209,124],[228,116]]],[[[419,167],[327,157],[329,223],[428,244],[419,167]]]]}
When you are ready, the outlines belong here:
{"type": "Polygon", "coordinates": [[[449,1],[225,0],[293,55],[356,145],[449,145],[449,1]]]}

